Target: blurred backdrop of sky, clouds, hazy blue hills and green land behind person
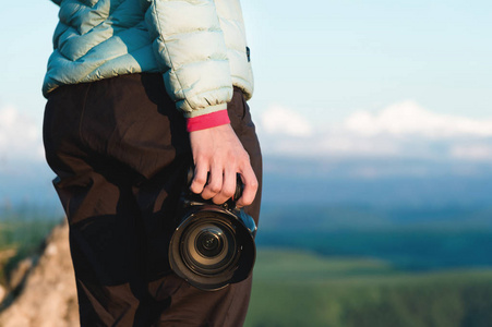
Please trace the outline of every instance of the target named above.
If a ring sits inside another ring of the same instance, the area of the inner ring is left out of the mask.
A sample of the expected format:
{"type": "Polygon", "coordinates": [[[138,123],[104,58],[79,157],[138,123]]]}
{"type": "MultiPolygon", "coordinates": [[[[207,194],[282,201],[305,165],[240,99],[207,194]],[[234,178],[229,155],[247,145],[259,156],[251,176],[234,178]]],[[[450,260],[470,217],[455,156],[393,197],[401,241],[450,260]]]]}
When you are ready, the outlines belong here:
{"type": "MultiPolygon", "coordinates": [[[[265,170],[247,326],[492,326],[492,3],[242,7],[265,170]]],[[[57,8],[0,22],[1,322],[63,213],[40,136],[57,8]]]]}

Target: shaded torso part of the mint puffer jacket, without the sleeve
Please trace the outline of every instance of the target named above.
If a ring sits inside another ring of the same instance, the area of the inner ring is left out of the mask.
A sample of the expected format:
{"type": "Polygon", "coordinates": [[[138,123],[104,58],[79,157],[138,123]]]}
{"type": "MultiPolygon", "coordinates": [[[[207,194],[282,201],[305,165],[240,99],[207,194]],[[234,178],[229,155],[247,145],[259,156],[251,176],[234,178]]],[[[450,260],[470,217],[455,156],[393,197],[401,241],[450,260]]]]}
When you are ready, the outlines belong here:
{"type": "Polygon", "coordinates": [[[43,85],[45,96],[60,85],[159,72],[139,1],[57,1],[59,23],[43,85]]]}

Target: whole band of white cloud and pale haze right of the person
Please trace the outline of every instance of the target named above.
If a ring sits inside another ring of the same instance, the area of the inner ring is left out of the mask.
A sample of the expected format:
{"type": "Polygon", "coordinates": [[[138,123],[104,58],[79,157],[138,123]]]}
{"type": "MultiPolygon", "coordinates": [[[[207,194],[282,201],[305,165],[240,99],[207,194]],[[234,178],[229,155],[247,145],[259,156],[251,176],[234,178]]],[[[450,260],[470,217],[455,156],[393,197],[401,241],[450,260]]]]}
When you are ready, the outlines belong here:
{"type": "Polygon", "coordinates": [[[265,154],[492,161],[492,119],[436,113],[415,101],[358,111],[338,125],[272,107],[259,125],[265,154]]]}

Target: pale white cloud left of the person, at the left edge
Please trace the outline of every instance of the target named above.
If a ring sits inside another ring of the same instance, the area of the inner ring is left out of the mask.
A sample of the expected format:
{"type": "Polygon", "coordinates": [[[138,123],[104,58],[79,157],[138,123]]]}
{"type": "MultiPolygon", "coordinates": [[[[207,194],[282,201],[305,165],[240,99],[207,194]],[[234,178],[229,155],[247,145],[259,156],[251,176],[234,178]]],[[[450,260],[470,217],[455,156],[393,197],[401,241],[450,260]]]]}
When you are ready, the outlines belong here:
{"type": "Polygon", "coordinates": [[[0,166],[44,159],[41,126],[14,107],[0,109],[0,166]]]}

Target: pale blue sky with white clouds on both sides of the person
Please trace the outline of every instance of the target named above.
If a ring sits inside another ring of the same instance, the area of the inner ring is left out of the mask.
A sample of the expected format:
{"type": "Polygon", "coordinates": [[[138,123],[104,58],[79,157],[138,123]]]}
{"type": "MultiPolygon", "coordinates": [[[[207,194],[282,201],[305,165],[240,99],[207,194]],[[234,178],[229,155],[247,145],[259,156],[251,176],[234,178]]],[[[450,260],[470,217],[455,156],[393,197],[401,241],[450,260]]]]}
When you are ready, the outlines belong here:
{"type": "MultiPolygon", "coordinates": [[[[492,160],[492,2],[242,7],[265,154],[492,160]]],[[[0,12],[0,168],[43,160],[40,87],[57,12],[48,0],[0,12]]]]}

